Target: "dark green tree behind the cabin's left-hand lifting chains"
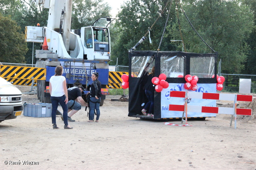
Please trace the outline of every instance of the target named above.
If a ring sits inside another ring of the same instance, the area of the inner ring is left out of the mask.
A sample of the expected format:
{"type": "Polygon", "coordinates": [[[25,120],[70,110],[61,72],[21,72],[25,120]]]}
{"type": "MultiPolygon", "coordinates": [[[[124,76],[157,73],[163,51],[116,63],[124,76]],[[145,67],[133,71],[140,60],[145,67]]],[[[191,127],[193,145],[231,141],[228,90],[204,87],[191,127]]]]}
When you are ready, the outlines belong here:
{"type": "MultiPolygon", "coordinates": [[[[128,50],[138,43],[157,20],[158,16],[161,15],[150,30],[152,43],[149,42],[147,35],[147,39],[136,50],[158,49],[170,7],[168,5],[164,10],[167,2],[168,0],[130,0],[121,6],[121,11],[117,14],[119,19],[115,25],[115,27],[118,27],[118,39],[114,43],[114,47],[112,46],[111,59],[113,61],[110,64],[115,65],[118,58],[119,65],[128,66],[128,50]],[[164,12],[161,14],[163,10],[164,12]]],[[[175,6],[172,4],[168,21],[169,25],[172,25],[172,16],[174,14],[175,6]]],[[[171,39],[172,36],[164,37],[160,51],[175,49],[174,45],[170,44],[171,39]]]]}

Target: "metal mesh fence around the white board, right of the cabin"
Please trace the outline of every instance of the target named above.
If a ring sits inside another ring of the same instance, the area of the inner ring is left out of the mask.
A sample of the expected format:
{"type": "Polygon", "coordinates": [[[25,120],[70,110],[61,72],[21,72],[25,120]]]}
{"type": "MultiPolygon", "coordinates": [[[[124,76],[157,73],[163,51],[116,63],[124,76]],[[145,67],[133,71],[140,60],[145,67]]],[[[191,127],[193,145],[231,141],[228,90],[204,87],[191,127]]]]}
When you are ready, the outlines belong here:
{"type": "Polygon", "coordinates": [[[256,93],[256,75],[246,74],[221,74],[224,76],[225,82],[223,84],[222,92],[239,92],[239,80],[240,78],[251,79],[251,93],[256,93]]]}

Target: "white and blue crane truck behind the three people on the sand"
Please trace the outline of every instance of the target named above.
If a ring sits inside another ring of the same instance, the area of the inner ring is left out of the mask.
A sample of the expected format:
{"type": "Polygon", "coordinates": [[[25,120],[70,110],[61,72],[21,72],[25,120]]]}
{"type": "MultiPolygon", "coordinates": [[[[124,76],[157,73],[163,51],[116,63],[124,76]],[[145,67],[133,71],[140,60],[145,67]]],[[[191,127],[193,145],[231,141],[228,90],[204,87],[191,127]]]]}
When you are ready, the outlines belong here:
{"type": "Polygon", "coordinates": [[[89,91],[91,74],[98,72],[102,84],[102,106],[108,94],[109,26],[115,19],[103,17],[92,26],[70,30],[72,0],[33,1],[49,8],[47,27],[26,26],[25,29],[26,42],[42,43],[42,50],[36,50],[36,67],[46,68],[46,80],[37,82],[38,99],[51,103],[49,80],[55,74],[55,67],[61,65],[68,88],[82,85],[85,91],[89,91]]]}

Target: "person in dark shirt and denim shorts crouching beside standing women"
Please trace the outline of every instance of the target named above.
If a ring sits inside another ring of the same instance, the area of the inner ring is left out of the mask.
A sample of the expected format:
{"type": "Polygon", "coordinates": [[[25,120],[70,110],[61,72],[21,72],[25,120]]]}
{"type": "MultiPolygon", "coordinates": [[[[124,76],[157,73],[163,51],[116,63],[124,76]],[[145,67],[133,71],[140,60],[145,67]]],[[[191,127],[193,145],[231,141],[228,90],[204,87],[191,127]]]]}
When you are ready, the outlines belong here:
{"type": "MultiPolygon", "coordinates": [[[[86,102],[84,102],[82,98],[82,94],[84,94],[84,87],[71,87],[68,88],[68,121],[75,121],[71,118],[76,112],[78,112],[82,106],[88,106],[86,102]]],[[[63,120],[63,115],[60,117],[63,120]]]]}

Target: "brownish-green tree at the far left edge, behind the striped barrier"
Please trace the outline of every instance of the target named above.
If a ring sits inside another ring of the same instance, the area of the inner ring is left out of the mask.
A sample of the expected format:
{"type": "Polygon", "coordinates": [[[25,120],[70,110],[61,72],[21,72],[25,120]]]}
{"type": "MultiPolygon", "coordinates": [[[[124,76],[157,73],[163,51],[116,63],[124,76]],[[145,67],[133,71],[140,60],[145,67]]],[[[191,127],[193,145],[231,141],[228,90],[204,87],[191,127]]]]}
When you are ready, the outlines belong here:
{"type": "Polygon", "coordinates": [[[26,63],[24,55],[27,51],[20,26],[10,16],[0,14],[0,62],[26,63]]]}

